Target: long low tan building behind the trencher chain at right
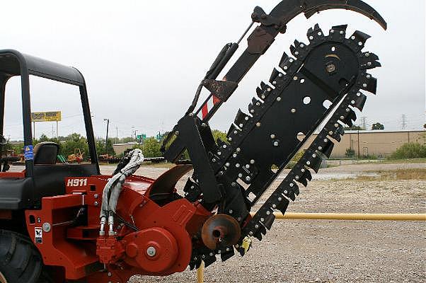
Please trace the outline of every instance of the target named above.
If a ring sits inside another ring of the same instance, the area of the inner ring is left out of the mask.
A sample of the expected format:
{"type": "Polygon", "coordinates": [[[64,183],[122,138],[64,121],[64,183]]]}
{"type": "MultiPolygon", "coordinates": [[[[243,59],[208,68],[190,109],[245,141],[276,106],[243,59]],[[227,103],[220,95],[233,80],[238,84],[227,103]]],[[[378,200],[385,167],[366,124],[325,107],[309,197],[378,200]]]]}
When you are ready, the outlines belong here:
{"type": "MultiPolygon", "coordinates": [[[[313,139],[316,138],[317,134],[313,134],[308,139],[308,143],[311,144],[313,139]]],[[[298,135],[299,139],[304,136],[298,135]]],[[[418,142],[420,144],[426,144],[426,131],[418,130],[399,130],[399,131],[388,131],[388,130],[347,130],[342,137],[340,142],[335,142],[333,153],[330,157],[345,157],[346,149],[353,149],[355,156],[388,156],[393,151],[396,151],[398,147],[402,146],[407,142],[418,142]],[[358,139],[359,137],[359,139],[358,139]],[[358,152],[359,149],[359,152],[358,152]]],[[[306,149],[307,146],[303,146],[306,149]]]]}

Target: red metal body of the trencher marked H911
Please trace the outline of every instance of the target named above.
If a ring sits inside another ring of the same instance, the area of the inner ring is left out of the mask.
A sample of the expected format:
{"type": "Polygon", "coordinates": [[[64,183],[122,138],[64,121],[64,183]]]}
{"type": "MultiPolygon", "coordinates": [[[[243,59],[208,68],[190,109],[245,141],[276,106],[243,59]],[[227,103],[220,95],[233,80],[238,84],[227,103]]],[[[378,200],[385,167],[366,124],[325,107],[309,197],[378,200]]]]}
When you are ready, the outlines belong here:
{"type": "Polygon", "coordinates": [[[42,209],[25,211],[28,233],[45,265],[59,265],[64,278],[86,277],[88,282],[127,282],[136,274],[170,275],[185,270],[190,262],[192,237],[212,213],[184,198],[161,207],[148,197],[161,178],[132,175],[123,186],[117,214],[137,226],[138,231],[117,224],[114,236],[99,236],[100,203],[110,177],[67,178],[66,195],[44,197],[42,209]],[[88,223],[70,226],[82,207],[87,209],[88,223]],[[154,256],[148,255],[149,247],[155,248],[154,256]],[[99,270],[108,272],[95,272],[99,270]]]}

